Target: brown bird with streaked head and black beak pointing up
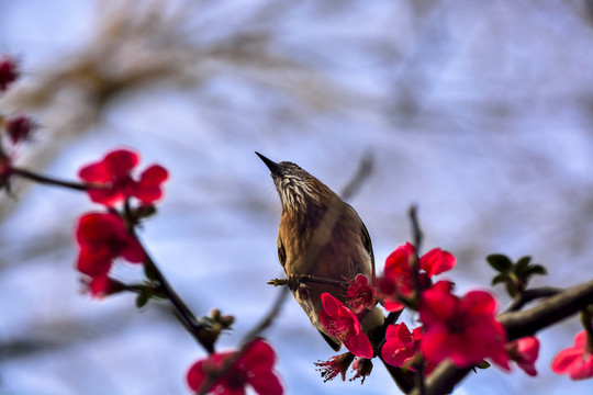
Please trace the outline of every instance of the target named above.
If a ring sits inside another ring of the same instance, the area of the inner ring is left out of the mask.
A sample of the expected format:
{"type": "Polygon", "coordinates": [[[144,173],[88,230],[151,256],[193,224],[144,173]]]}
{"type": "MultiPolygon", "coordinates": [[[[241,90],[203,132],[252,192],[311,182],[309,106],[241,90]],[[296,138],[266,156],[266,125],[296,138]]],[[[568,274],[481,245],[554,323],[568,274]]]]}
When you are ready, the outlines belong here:
{"type": "MultiPolygon", "coordinates": [[[[268,167],[280,196],[282,214],[278,229],[278,259],[287,278],[309,274],[318,279],[351,281],[357,274],[374,279],[374,256],[369,232],[358,213],[337,193],[290,161],[279,163],[256,151],[268,167]]],[[[335,350],[340,341],[320,321],[325,292],[345,301],[345,290],[329,283],[299,284],[291,289],[311,324],[335,350]]],[[[362,330],[384,320],[379,307],[361,320],[362,330]]]]}

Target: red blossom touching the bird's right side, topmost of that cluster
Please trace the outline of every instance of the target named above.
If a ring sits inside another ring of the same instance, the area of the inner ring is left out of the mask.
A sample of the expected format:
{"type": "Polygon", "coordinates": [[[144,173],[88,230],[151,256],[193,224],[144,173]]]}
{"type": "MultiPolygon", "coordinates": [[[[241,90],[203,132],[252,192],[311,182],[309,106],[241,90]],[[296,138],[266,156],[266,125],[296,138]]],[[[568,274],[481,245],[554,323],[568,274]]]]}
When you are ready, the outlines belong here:
{"type": "MultiPolygon", "coordinates": [[[[396,312],[405,306],[400,296],[412,297],[414,295],[414,272],[412,264],[416,259],[414,246],[406,242],[395,248],[385,260],[383,276],[378,280],[381,295],[385,298],[384,306],[390,312],[396,312]]],[[[455,267],[455,257],[439,248],[432,249],[418,261],[418,280],[421,290],[430,284],[430,278],[455,267]]]]}

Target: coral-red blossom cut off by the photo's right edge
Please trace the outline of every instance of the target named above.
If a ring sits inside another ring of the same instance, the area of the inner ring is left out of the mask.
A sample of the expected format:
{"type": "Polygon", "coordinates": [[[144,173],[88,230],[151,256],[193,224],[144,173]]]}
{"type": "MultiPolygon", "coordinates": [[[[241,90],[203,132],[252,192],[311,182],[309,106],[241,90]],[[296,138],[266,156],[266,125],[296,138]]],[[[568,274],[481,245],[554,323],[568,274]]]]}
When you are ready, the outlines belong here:
{"type": "Polygon", "coordinates": [[[555,357],[552,371],[558,374],[569,374],[572,380],[593,377],[593,350],[588,341],[586,331],[574,337],[574,347],[563,349],[555,357]]]}

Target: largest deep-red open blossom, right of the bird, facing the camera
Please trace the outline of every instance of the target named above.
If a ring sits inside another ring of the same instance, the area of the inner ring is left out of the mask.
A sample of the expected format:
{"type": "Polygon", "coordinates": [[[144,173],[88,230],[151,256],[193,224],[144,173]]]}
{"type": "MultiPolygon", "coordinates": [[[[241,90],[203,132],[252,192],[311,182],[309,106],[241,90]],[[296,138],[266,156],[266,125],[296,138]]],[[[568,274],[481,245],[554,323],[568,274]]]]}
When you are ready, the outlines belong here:
{"type": "Polygon", "coordinates": [[[423,292],[419,319],[424,324],[421,343],[425,359],[439,363],[446,358],[460,368],[484,358],[508,370],[504,348],[506,331],[496,321],[496,301],[488,292],[472,291],[459,298],[451,283],[439,281],[423,292]]]}

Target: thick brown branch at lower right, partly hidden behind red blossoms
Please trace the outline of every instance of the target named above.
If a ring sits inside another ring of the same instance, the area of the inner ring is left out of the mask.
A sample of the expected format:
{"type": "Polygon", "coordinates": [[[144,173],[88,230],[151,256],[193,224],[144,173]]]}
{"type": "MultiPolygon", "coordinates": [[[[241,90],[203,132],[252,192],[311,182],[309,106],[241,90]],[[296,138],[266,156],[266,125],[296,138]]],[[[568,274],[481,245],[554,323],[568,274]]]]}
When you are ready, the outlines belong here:
{"type": "MultiPolygon", "coordinates": [[[[508,334],[508,340],[535,335],[538,330],[552,326],[593,303],[593,280],[571,286],[557,293],[539,305],[524,312],[508,312],[499,315],[508,334]]],[[[447,393],[471,371],[459,369],[450,361],[441,363],[426,380],[425,395],[447,393]]],[[[414,390],[410,395],[419,395],[414,390]]]]}

